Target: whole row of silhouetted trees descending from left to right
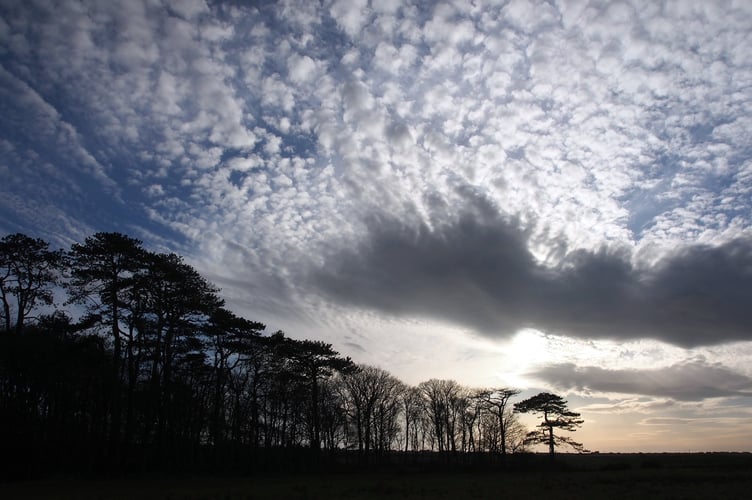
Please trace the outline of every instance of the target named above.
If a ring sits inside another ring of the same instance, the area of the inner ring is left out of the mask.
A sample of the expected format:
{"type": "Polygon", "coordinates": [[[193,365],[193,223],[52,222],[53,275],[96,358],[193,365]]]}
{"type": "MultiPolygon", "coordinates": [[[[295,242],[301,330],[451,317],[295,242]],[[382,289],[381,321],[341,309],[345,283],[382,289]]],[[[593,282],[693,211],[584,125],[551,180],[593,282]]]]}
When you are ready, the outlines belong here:
{"type": "Polygon", "coordinates": [[[409,386],[331,344],[225,307],[182,257],[120,233],[68,250],[0,240],[3,474],[236,470],[395,453],[503,459],[582,450],[559,396],[430,379],[409,386]],[[519,413],[535,412],[528,432],[519,413]]]}

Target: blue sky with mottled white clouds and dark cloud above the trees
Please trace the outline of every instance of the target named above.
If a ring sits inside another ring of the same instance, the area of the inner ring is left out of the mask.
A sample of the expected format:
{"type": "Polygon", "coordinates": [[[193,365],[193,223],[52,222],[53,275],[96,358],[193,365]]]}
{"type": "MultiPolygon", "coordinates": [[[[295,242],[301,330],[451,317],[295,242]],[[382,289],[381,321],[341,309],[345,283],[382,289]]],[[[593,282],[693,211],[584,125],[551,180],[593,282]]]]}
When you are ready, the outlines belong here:
{"type": "Polygon", "coordinates": [[[746,1],[2,0],[0,233],[591,450],[752,451],[749,47],[746,1]]]}

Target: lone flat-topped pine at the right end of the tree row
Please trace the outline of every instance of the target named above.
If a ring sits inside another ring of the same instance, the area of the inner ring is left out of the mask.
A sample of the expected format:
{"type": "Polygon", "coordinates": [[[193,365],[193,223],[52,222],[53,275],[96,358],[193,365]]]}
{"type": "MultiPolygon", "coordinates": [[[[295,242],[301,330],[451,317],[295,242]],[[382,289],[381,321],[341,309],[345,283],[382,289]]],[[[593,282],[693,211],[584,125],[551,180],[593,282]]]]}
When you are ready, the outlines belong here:
{"type": "Polygon", "coordinates": [[[554,428],[574,432],[584,422],[580,418],[579,413],[569,410],[566,400],[561,396],[541,392],[516,403],[514,410],[518,413],[537,413],[543,417],[543,420],[538,425],[539,429],[529,432],[526,442],[530,444],[547,444],[548,453],[551,457],[554,456],[555,448],[559,445],[570,446],[580,453],[585,451],[582,443],[554,434],[554,428]]]}

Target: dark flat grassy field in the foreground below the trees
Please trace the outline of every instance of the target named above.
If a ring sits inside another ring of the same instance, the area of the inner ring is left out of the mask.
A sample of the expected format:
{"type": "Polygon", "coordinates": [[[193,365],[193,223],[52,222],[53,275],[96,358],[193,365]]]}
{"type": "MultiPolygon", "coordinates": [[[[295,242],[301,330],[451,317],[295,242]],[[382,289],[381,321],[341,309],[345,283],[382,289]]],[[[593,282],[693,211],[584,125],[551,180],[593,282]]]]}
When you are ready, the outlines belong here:
{"type": "Polygon", "coordinates": [[[750,498],[750,454],[602,454],[516,470],[279,474],[246,478],[48,479],[0,484],[0,498],[750,498]]]}

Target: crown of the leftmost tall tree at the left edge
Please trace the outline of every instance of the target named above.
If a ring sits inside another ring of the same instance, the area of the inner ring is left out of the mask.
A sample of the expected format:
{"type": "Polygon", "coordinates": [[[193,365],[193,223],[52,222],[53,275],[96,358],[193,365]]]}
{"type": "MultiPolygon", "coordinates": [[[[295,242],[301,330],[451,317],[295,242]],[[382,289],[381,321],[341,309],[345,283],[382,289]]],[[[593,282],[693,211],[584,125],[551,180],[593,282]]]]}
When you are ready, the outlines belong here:
{"type": "Polygon", "coordinates": [[[44,240],[20,233],[0,240],[0,300],[6,331],[12,327],[13,306],[15,330],[21,333],[37,305],[52,305],[61,264],[62,251],[50,250],[44,240]]]}

